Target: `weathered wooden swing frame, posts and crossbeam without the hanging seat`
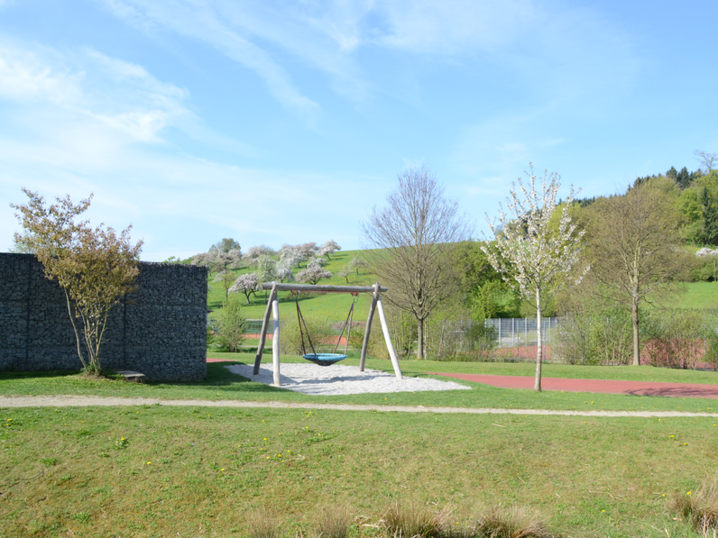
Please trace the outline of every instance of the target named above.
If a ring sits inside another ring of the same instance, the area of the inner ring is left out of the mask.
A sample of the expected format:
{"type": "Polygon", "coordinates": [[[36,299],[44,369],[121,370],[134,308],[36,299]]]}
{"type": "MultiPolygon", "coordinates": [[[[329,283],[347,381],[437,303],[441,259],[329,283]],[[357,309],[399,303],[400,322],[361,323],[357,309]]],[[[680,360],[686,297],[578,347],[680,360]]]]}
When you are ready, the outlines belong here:
{"type": "Polygon", "coordinates": [[[382,323],[382,333],[384,334],[384,341],[386,342],[386,349],[389,351],[391,357],[391,366],[394,369],[394,375],[397,379],[402,379],[401,369],[399,368],[399,360],[397,359],[394,346],[391,344],[391,335],[389,334],[389,325],[386,323],[386,315],[384,314],[384,307],[382,305],[382,296],[380,292],[389,291],[388,287],[381,287],[379,282],[373,286],[321,286],[311,284],[293,284],[293,283],[281,283],[281,282],[263,282],[260,287],[262,289],[271,289],[269,300],[267,301],[267,309],[264,312],[262,319],[262,331],[260,333],[259,346],[257,347],[257,356],[254,359],[254,370],[253,375],[259,374],[259,368],[262,364],[262,353],[264,352],[264,345],[267,342],[267,331],[269,329],[270,315],[273,320],[273,336],[272,336],[272,369],[274,373],[274,387],[281,387],[280,377],[280,302],[277,293],[280,291],[307,291],[307,292],[333,292],[333,293],[373,293],[372,306],[369,308],[369,317],[366,320],[366,330],[364,331],[364,342],[362,342],[362,355],[359,361],[360,371],[364,371],[364,364],[366,362],[366,350],[369,345],[369,335],[372,331],[372,322],[374,317],[374,311],[379,311],[379,319],[382,323]]]}

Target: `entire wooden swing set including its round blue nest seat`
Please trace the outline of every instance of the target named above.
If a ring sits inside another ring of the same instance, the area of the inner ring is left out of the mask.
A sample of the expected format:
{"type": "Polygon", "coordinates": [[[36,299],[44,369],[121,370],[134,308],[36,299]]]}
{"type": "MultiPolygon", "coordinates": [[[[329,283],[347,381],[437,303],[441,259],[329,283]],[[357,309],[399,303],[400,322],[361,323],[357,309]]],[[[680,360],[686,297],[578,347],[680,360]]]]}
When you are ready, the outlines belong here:
{"type": "MultiPolygon", "coordinates": [[[[379,285],[379,282],[374,284],[373,286],[322,286],[322,285],[312,285],[312,284],[294,284],[294,283],[280,283],[280,282],[263,282],[260,286],[261,289],[271,289],[272,293],[270,294],[269,301],[267,302],[267,310],[264,313],[264,318],[262,320],[262,333],[260,334],[260,343],[257,347],[257,356],[254,359],[254,369],[253,369],[253,375],[259,374],[260,365],[262,363],[262,352],[264,350],[264,343],[267,339],[267,332],[269,329],[269,322],[270,322],[270,316],[273,318],[273,338],[272,338],[272,369],[273,369],[273,380],[274,380],[274,386],[280,387],[281,386],[281,379],[280,379],[280,319],[279,319],[279,298],[277,296],[278,291],[291,291],[292,295],[297,292],[335,292],[335,293],[350,293],[354,296],[354,300],[356,299],[356,296],[360,293],[373,293],[373,301],[372,306],[369,309],[369,317],[366,320],[366,330],[364,332],[364,343],[362,345],[362,355],[361,355],[361,361],[359,365],[359,369],[361,371],[364,371],[364,360],[366,357],[366,348],[369,341],[369,333],[372,330],[372,320],[374,315],[374,310],[378,310],[379,312],[379,318],[382,322],[382,333],[384,334],[384,340],[386,341],[386,347],[389,351],[389,356],[391,357],[391,365],[394,369],[394,374],[396,375],[396,378],[401,379],[401,370],[399,368],[399,360],[397,359],[396,352],[394,351],[394,346],[391,344],[391,336],[389,334],[389,326],[386,323],[386,317],[384,315],[384,309],[382,306],[382,299],[379,295],[380,292],[388,291],[388,287],[382,287],[379,285]]],[[[299,331],[301,331],[301,325],[303,323],[303,316],[301,315],[301,311],[299,309],[299,302],[297,302],[297,313],[299,316],[299,331]]],[[[352,301],[352,306],[349,309],[349,315],[347,315],[347,322],[345,322],[344,327],[342,328],[342,334],[340,334],[339,339],[341,340],[341,336],[344,334],[344,329],[348,325],[348,330],[351,331],[351,324],[352,319],[354,317],[354,301],[352,301]]],[[[306,329],[306,326],[305,326],[306,329]]],[[[302,335],[303,336],[303,335],[302,335]]],[[[308,337],[308,332],[307,332],[308,337]]],[[[346,334],[346,348],[348,348],[349,345],[349,333],[346,334]]],[[[314,346],[312,345],[311,340],[309,340],[309,345],[312,348],[312,351],[314,351],[314,346]]],[[[335,346],[338,347],[338,341],[335,346]]],[[[302,338],[302,348],[304,348],[304,338],[302,338]]],[[[346,352],[346,349],[345,349],[346,352]]],[[[329,366],[330,364],[333,364],[334,362],[337,362],[338,360],[343,360],[346,358],[346,355],[338,355],[335,353],[317,353],[314,351],[314,353],[307,354],[305,353],[303,357],[307,360],[311,360],[312,362],[315,362],[319,364],[320,366],[329,366]]]]}

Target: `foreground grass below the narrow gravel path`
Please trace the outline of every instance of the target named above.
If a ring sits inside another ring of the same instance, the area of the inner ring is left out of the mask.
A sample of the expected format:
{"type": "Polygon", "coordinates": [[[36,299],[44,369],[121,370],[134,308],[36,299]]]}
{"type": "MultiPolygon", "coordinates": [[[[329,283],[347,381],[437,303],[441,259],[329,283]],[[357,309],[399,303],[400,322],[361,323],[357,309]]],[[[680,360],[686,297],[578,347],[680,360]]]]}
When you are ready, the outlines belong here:
{"type": "Polygon", "coordinates": [[[0,424],[6,537],[246,536],[262,508],[307,536],[322,506],[376,524],[410,500],[456,521],[529,505],[563,535],[695,536],[664,495],[718,464],[705,418],[137,406],[2,409],[0,424]]]}

